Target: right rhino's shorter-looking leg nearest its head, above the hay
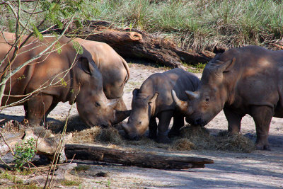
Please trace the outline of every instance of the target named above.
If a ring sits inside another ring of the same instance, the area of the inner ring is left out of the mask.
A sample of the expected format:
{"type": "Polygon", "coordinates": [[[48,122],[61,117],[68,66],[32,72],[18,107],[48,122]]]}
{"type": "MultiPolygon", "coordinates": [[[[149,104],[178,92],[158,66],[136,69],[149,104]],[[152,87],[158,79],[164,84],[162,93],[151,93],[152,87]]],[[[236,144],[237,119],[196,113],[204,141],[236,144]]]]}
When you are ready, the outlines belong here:
{"type": "Polygon", "coordinates": [[[228,132],[229,134],[237,134],[241,130],[241,120],[243,115],[238,114],[231,110],[230,108],[224,107],[224,114],[228,121],[228,132]]]}

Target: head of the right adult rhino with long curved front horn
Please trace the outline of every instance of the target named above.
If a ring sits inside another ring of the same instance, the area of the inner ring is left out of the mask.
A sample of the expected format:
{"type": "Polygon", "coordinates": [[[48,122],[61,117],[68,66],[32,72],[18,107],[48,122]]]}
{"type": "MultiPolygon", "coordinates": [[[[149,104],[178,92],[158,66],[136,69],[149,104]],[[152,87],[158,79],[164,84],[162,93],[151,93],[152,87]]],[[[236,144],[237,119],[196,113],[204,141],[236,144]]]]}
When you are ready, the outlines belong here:
{"type": "Polygon", "coordinates": [[[223,62],[212,59],[202,73],[197,91],[185,91],[188,101],[181,101],[172,91],[173,101],[191,125],[207,125],[223,108],[228,91],[224,74],[231,71],[235,58],[223,62]]]}

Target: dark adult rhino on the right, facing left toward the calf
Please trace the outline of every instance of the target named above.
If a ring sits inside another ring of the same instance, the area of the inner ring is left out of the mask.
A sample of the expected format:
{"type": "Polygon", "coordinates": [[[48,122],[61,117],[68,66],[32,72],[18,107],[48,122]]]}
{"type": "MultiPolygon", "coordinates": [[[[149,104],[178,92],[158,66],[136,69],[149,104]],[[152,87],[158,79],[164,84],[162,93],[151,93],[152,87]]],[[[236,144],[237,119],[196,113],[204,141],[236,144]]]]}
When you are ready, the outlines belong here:
{"type": "Polygon", "coordinates": [[[231,134],[240,132],[241,119],[255,121],[257,149],[270,149],[272,117],[283,118],[283,51],[248,46],[217,55],[204,68],[192,101],[180,105],[192,125],[207,125],[222,109],[231,134]]]}

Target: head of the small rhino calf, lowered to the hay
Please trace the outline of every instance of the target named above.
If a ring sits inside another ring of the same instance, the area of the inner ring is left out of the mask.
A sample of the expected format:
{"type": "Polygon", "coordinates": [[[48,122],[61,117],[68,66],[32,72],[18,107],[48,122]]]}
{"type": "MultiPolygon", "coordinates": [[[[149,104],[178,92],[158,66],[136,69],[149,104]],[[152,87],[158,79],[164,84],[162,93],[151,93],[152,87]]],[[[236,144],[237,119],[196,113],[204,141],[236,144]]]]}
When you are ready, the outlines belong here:
{"type": "Polygon", "coordinates": [[[141,96],[139,89],[134,89],[132,112],[127,124],[122,125],[129,139],[137,140],[146,132],[151,118],[151,105],[156,101],[157,96],[157,92],[153,96],[141,96]]]}

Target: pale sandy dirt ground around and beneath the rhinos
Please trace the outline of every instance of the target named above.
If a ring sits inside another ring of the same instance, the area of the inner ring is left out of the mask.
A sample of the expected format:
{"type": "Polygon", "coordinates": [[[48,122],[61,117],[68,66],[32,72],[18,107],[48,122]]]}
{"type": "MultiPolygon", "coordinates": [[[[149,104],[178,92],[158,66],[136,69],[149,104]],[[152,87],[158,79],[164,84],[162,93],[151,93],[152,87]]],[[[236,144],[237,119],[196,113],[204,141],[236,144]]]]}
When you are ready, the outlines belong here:
{"type": "MultiPolygon", "coordinates": [[[[132,90],[141,86],[149,75],[166,71],[168,68],[135,63],[129,63],[129,67],[131,77],[125,86],[123,98],[130,109],[132,90]]],[[[197,76],[200,77],[201,74],[197,76]]],[[[55,122],[63,120],[69,108],[69,103],[59,103],[50,113],[48,120],[55,122]]],[[[71,115],[76,114],[76,108],[73,108],[71,115]]],[[[2,110],[0,119],[4,118],[21,121],[23,108],[13,107],[2,110]]],[[[212,134],[227,130],[224,113],[219,113],[206,127],[212,134]]],[[[255,125],[248,115],[243,118],[241,133],[255,140],[255,125]]],[[[74,161],[82,169],[71,171],[68,179],[80,181],[80,184],[60,185],[59,188],[283,188],[283,119],[272,119],[269,140],[271,151],[251,153],[209,150],[164,151],[214,160],[214,164],[209,164],[205,168],[180,171],[74,161]],[[98,177],[96,174],[100,171],[107,173],[107,176],[98,177]]]]}

